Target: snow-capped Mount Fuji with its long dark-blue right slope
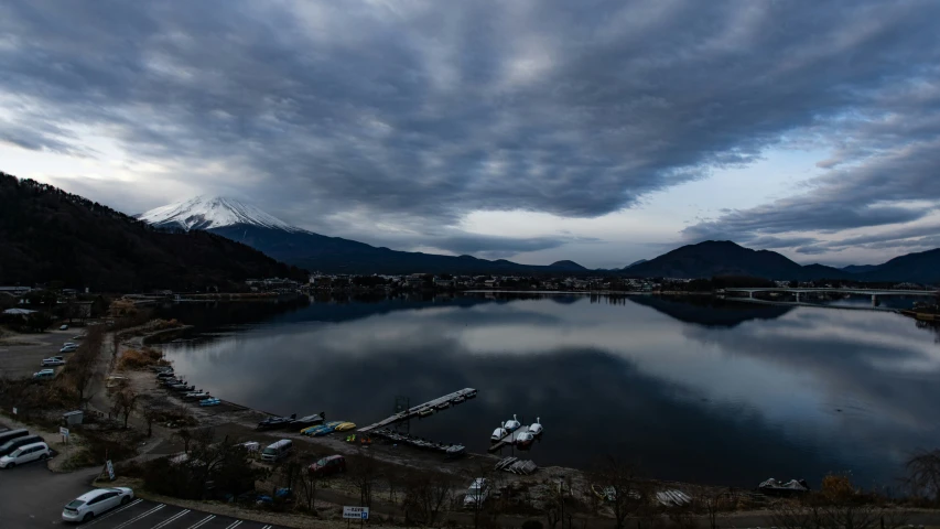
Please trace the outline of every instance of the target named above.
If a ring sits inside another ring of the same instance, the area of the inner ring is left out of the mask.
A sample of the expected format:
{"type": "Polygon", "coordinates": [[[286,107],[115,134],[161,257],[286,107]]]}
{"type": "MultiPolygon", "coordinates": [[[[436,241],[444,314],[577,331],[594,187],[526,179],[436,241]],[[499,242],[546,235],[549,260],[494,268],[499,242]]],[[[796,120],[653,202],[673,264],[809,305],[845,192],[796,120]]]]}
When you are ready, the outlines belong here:
{"type": "Polygon", "coordinates": [[[495,261],[472,256],[441,256],[377,248],[341,237],[327,237],[292,226],[235,198],[197,196],[169,204],[138,219],[166,229],[205,230],[246,244],[268,256],[328,273],[560,273],[584,270],[571,261],[548,267],[495,261]]]}

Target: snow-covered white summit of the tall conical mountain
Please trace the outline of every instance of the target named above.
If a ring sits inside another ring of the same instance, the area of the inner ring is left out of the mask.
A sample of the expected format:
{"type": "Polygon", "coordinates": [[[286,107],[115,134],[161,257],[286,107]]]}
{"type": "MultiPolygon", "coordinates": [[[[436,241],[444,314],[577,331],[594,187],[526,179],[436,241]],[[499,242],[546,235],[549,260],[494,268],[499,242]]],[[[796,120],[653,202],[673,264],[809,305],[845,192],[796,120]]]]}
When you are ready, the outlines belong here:
{"type": "Polygon", "coordinates": [[[185,202],[153,208],[139,215],[138,218],[154,226],[179,227],[187,231],[220,228],[234,224],[303,231],[250,204],[224,196],[201,195],[185,202]]]}

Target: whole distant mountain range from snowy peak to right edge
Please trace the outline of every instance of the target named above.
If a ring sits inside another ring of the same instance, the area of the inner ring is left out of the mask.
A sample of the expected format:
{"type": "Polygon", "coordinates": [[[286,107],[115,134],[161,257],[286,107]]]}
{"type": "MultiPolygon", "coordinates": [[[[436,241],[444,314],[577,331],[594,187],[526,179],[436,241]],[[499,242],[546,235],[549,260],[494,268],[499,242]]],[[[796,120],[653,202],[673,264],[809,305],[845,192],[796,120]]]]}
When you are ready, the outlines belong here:
{"type": "Polygon", "coordinates": [[[505,259],[442,256],[379,248],[341,237],[328,237],[292,226],[234,198],[198,196],[151,209],[138,218],[153,226],[206,230],[244,242],[280,261],[332,273],[603,273],[636,278],[712,278],[746,276],[775,280],[856,280],[940,282],[940,249],[910,253],[883,264],[834,268],[801,266],[770,250],[753,250],[732,241],[688,245],[655,259],[638,260],[619,270],[590,270],[574,261],[548,266],[520,264],[505,259]]]}

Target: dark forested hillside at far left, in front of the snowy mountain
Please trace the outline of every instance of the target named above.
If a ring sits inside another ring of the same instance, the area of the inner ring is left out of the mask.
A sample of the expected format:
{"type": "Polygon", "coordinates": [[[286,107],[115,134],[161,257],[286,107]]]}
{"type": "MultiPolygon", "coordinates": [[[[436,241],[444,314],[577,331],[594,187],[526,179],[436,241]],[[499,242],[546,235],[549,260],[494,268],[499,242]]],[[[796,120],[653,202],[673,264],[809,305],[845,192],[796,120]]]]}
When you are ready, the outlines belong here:
{"type": "Polygon", "coordinates": [[[77,195],[0,173],[0,284],[94,291],[244,289],[302,270],[205,231],[168,233],[77,195]]]}

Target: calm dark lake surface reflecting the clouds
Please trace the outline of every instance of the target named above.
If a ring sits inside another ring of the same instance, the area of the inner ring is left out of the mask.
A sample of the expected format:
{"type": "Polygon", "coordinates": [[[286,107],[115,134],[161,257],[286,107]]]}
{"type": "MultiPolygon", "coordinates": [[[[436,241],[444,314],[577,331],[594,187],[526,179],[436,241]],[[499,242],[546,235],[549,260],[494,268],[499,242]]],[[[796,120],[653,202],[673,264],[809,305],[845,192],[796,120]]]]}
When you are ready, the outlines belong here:
{"type": "Polygon", "coordinates": [[[658,478],[872,487],[940,445],[937,335],[893,313],[584,295],[171,311],[204,332],[170,359],[215,396],[364,425],[396,396],[474,387],[412,433],[483,451],[500,421],[540,417],[542,466],[617,454],[658,478]]]}

